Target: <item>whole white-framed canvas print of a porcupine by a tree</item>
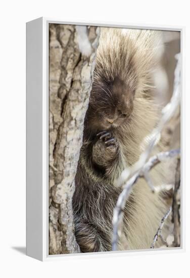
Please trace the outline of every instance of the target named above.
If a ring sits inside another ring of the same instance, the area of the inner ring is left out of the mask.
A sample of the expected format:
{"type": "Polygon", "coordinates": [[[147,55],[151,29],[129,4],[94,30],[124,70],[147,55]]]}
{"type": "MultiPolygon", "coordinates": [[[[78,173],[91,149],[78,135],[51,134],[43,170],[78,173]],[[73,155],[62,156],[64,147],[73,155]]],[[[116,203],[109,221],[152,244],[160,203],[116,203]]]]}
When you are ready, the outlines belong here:
{"type": "Polygon", "coordinates": [[[27,23],[27,255],[182,250],[182,30],[27,23]]]}

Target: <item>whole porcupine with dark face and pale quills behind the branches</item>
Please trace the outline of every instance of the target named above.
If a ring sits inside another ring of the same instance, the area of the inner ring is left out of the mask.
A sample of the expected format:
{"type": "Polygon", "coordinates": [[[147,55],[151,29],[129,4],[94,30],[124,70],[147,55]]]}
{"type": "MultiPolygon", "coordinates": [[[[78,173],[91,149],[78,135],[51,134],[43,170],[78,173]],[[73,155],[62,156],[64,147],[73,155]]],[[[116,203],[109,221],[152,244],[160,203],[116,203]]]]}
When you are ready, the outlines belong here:
{"type": "MultiPolygon", "coordinates": [[[[81,252],[111,251],[120,174],[138,160],[158,118],[153,72],[160,45],[159,31],[101,28],[72,202],[81,252]]],[[[158,182],[162,174],[153,171],[158,182]]],[[[150,248],[164,208],[140,179],[124,208],[118,250],[150,248]]]]}

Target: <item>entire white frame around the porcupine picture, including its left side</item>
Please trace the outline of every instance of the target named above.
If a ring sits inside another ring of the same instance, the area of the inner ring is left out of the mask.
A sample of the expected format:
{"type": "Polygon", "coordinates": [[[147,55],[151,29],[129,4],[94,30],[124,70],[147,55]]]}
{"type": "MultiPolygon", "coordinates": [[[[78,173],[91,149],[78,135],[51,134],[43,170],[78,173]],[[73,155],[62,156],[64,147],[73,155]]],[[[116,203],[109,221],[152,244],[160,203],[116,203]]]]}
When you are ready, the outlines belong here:
{"type": "MultiPolygon", "coordinates": [[[[82,21],[82,20],[81,20],[82,21]]],[[[184,27],[116,22],[64,22],[38,18],[26,24],[26,254],[41,261],[107,256],[176,253],[185,251],[184,198],[184,74],[181,74],[181,247],[83,254],[49,255],[49,23],[180,31],[184,72],[184,27]],[[153,253],[152,253],[153,252],[153,253]]]]}

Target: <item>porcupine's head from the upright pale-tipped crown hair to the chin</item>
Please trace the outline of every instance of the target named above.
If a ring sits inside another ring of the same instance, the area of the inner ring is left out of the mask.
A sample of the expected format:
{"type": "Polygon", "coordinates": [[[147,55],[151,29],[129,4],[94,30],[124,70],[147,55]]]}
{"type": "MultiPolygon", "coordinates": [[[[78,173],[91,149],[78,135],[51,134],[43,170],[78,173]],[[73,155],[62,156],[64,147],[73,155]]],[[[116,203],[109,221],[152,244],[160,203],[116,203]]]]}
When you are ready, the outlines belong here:
{"type": "Polygon", "coordinates": [[[134,54],[135,47],[119,30],[110,35],[102,30],[86,114],[90,128],[115,129],[130,120],[137,87],[134,54]]]}

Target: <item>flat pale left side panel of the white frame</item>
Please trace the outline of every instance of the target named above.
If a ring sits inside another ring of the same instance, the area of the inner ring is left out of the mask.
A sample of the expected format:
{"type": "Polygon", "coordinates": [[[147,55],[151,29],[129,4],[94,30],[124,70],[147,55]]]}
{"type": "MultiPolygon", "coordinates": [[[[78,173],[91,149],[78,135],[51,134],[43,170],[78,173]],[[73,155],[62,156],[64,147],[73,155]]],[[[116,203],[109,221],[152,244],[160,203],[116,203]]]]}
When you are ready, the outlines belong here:
{"type": "Polygon", "coordinates": [[[42,260],[42,19],[26,25],[26,254],[42,260]]]}

